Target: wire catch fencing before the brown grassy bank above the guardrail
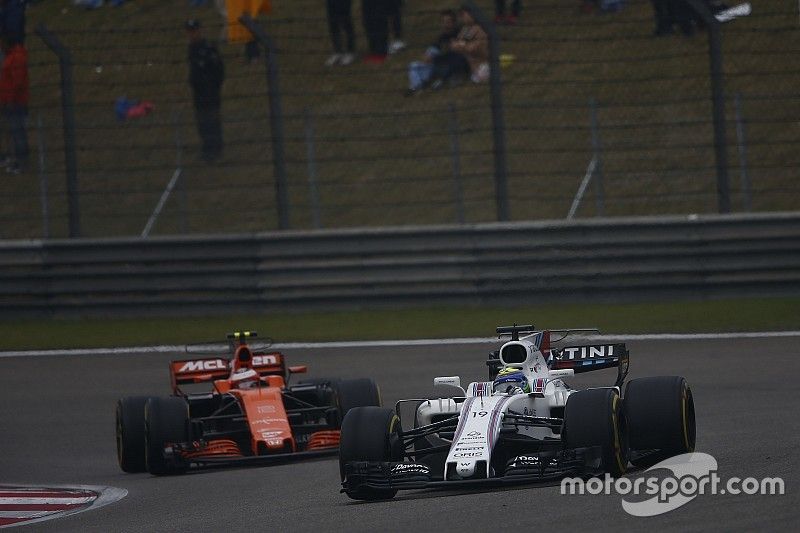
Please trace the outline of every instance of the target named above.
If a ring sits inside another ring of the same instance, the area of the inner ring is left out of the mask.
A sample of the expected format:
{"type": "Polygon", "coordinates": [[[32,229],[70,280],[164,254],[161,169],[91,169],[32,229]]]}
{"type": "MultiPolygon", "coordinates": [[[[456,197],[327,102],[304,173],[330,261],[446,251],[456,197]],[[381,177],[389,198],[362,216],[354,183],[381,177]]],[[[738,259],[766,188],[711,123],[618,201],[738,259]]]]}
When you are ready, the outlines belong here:
{"type": "MultiPolygon", "coordinates": [[[[181,11],[142,1],[63,13],[67,8],[51,4],[32,5],[28,20],[44,24],[69,51],[74,125],[65,128],[72,119],[63,112],[59,60],[31,34],[35,157],[27,174],[0,180],[0,238],[720,210],[708,33],[654,37],[647,0],[588,14],[578,2],[527,2],[515,26],[498,27],[501,132],[487,85],[403,95],[408,63],[434,40],[438,12],[453,2],[407,1],[408,49],[382,66],[334,68],[324,66],[331,49],[323,4],[275,2],[258,23],[275,43],[280,138],[263,50],[248,62],[243,45],[223,43],[225,155],[214,164],[199,157],[181,25],[196,16],[216,39],[224,28],[211,6],[181,11]],[[123,96],[152,101],[155,110],[118,120],[114,105],[123,96]],[[496,187],[499,133],[506,216],[496,187]],[[276,194],[276,142],[284,153],[285,205],[276,194]]],[[[476,5],[492,18],[493,2],[476,5]]],[[[797,6],[778,0],[759,2],[720,28],[733,211],[800,208],[799,30],[797,6]]]]}

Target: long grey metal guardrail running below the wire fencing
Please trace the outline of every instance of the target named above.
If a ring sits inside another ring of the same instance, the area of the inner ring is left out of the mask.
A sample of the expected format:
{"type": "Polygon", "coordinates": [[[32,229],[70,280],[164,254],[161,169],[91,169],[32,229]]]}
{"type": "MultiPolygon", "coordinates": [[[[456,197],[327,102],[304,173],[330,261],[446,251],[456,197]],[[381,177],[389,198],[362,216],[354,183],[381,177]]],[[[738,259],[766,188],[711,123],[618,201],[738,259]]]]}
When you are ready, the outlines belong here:
{"type": "Polygon", "coordinates": [[[800,292],[800,214],[0,243],[0,316],[800,292]]]}

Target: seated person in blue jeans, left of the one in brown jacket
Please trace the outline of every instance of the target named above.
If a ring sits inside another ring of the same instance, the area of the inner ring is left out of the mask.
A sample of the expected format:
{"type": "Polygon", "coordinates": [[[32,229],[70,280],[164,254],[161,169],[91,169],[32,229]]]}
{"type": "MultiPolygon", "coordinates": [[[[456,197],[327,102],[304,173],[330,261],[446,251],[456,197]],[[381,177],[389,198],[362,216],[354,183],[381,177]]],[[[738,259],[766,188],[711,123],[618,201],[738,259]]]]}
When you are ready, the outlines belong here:
{"type": "Polygon", "coordinates": [[[441,86],[455,74],[469,73],[467,59],[450,50],[450,43],[458,37],[460,27],[458,16],[452,9],[439,13],[442,33],[434,44],[428,47],[422,61],[413,61],[408,65],[407,95],[416,94],[427,85],[441,86]]]}

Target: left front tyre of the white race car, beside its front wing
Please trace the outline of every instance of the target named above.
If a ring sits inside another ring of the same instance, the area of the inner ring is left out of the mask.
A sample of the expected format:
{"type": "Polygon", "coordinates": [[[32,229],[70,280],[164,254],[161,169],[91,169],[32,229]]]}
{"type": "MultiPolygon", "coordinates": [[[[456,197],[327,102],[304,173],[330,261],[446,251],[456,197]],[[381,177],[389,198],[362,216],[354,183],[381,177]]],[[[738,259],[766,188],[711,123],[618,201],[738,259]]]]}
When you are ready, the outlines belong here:
{"type": "MultiPolygon", "coordinates": [[[[339,442],[339,472],[345,480],[345,464],[352,461],[401,462],[403,444],[400,440],[400,419],[393,409],[383,407],[354,407],[342,422],[339,442]]],[[[355,487],[347,489],[354,500],[387,500],[397,489],[355,487]]]]}

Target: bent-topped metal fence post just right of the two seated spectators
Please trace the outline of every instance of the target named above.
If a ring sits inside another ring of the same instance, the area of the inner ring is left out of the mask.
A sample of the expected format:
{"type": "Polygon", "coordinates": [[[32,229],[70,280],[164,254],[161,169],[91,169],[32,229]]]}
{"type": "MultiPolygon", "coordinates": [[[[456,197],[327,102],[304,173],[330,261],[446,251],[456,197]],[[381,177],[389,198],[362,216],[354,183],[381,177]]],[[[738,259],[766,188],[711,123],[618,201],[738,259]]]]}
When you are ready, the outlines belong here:
{"type": "Polygon", "coordinates": [[[475,18],[475,22],[489,36],[489,92],[492,106],[492,136],[494,140],[494,182],[497,220],[504,222],[511,218],[508,204],[508,160],[506,154],[506,125],[503,116],[503,80],[500,76],[500,37],[497,27],[475,5],[466,0],[464,6],[475,18]]]}

